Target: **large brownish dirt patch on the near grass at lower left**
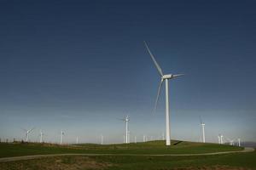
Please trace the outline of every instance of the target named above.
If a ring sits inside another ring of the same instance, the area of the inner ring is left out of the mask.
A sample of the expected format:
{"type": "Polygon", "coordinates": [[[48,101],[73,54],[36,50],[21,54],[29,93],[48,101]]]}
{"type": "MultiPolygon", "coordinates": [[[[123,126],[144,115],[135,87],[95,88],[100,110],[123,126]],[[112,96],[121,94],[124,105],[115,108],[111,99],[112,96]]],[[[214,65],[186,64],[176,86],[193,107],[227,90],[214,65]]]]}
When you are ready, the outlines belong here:
{"type": "Polygon", "coordinates": [[[79,170],[104,169],[110,166],[110,163],[95,161],[86,156],[60,156],[0,163],[0,169],[6,170],[79,170]]]}

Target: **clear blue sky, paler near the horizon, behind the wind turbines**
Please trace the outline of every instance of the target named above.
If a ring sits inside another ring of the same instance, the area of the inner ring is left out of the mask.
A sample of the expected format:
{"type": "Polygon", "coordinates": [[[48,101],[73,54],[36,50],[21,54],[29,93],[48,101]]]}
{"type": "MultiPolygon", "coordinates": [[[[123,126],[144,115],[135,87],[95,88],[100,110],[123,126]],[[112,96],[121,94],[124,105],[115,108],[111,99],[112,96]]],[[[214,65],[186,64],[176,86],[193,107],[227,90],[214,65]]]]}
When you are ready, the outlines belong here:
{"type": "MultiPolygon", "coordinates": [[[[170,82],[172,139],[256,141],[255,1],[1,1],[0,137],[20,127],[49,141],[122,142],[161,135],[165,99],[152,115],[160,77],[170,82]]],[[[163,91],[164,92],[164,91],[163,91]]]]}

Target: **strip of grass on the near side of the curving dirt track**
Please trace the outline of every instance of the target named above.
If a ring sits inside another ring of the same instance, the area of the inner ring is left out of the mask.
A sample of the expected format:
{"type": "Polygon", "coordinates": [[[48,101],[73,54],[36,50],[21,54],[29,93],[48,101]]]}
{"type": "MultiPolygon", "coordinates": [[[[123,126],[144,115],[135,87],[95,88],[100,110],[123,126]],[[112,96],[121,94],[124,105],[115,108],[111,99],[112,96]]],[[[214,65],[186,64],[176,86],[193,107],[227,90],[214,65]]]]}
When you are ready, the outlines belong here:
{"type": "Polygon", "coordinates": [[[256,169],[256,152],[218,156],[55,156],[36,160],[0,162],[9,170],[171,170],[171,169],[256,169]]]}

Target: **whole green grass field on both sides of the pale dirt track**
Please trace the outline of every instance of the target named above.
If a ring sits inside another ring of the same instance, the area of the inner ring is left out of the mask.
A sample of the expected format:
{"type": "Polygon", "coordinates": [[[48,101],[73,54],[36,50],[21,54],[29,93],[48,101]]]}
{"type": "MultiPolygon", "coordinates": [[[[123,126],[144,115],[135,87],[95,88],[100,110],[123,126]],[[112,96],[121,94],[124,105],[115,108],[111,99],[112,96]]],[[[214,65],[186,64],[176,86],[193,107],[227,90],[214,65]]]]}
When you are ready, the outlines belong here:
{"type": "MultiPolygon", "coordinates": [[[[48,144],[0,144],[0,156],[28,156],[58,153],[113,154],[189,154],[242,150],[240,147],[172,141],[137,144],[79,144],[59,146],[48,144]]],[[[167,169],[256,169],[256,152],[216,156],[54,156],[26,161],[0,162],[0,169],[107,169],[107,170],[167,170],[167,169]]]]}

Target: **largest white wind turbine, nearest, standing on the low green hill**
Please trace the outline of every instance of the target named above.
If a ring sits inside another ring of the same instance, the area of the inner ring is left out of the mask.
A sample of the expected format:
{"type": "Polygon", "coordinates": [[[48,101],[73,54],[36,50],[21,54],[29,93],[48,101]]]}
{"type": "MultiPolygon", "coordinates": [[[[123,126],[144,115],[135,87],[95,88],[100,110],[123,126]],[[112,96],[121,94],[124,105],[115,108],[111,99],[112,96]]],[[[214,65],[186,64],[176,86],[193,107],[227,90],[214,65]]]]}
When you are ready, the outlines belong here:
{"type": "Polygon", "coordinates": [[[166,145],[171,145],[171,138],[170,138],[170,116],[169,116],[169,85],[168,85],[168,81],[171,80],[172,78],[183,76],[183,74],[177,74],[177,75],[168,74],[168,75],[164,75],[163,71],[160,68],[160,65],[158,65],[158,63],[154,59],[154,55],[151,53],[150,49],[148,48],[147,43],[146,42],[144,42],[144,43],[145,43],[145,46],[146,46],[146,48],[148,50],[148,54],[150,55],[151,59],[154,62],[154,65],[155,65],[157,71],[160,74],[160,84],[159,84],[157,96],[156,96],[155,103],[154,103],[154,111],[156,110],[156,106],[157,106],[158,99],[159,99],[159,96],[160,96],[160,90],[161,90],[161,87],[162,87],[162,83],[164,82],[164,80],[166,81],[166,145]]]}

